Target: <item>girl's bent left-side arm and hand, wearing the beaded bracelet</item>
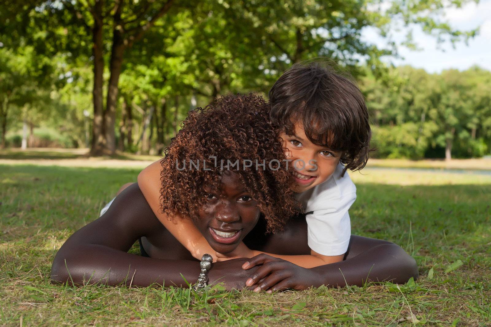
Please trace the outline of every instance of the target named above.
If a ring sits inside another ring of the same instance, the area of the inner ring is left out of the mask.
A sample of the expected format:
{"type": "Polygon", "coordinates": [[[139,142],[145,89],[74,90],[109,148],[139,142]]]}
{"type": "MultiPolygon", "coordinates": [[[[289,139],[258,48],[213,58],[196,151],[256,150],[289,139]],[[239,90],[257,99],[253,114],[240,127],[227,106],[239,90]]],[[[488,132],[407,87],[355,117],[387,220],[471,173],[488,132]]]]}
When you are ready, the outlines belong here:
{"type": "MultiPolygon", "coordinates": [[[[162,230],[162,225],[137,184],[133,184],[116,197],[102,217],[68,238],[53,261],[52,281],[138,286],[156,283],[186,287],[184,277],[195,283],[200,273],[197,261],[156,259],[127,253],[139,237],[151,235],[155,230],[162,230]]],[[[241,268],[245,261],[214,264],[213,272],[209,272],[210,280],[223,280],[227,288],[242,288],[250,275],[241,268]]]]}

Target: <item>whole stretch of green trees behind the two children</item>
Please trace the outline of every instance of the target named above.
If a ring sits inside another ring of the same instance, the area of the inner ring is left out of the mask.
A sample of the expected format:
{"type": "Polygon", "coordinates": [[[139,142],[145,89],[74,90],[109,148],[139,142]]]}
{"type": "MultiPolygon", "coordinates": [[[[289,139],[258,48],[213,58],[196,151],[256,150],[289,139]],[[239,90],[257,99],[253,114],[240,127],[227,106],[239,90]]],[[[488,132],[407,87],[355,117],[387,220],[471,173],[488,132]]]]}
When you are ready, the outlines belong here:
{"type": "Polygon", "coordinates": [[[443,42],[474,36],[438,15],[464,2],[7,0],[0,9],[1,146],[44,137],[88,146],[92,155],[160,153],[190,109],[228,92],[267,93],[294,62],[324,56],[359,81],[379,156],[441,156],[445,148],[483,155],[489,72],[430,75],[381,61],[401,46],[391,38],[395,21],[407,27],[409,47],[415,25],[443,42]],[[366,27],[387,46],[364,41],[366,27]],[[7,130],[21,126],[23,136],[9,139],[7,130]],[[35,137],[36,130],[45,134],[35,137]]]}

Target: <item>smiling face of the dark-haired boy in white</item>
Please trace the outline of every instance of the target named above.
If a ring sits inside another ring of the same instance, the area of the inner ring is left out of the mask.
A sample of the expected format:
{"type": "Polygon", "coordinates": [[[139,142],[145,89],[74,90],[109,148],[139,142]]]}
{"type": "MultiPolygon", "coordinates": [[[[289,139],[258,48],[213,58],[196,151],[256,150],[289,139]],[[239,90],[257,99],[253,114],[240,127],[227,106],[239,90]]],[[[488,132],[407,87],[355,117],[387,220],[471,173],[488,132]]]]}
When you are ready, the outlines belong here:
{"type": "Polygon", "coordinates": [[[286,158],[292,160],[289,169],[295,171],[294,192],[305,192],[325,182],[334,173],[342,152],[312,143],[301,122],[295,124],[294,135],[282,132],[280,137],[286,158]]]}

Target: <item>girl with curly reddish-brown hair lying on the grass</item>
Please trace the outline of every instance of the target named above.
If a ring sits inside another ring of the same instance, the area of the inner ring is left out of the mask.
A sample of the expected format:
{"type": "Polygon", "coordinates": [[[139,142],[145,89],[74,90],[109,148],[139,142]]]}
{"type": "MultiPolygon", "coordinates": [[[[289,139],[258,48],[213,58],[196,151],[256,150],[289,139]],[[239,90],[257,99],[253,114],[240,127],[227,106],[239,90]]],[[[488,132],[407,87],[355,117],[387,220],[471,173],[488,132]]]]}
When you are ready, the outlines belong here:
{"type": "MultiPolygon", "coordinates": [[[[293,176],[277,164],[285,155],[268,112],[259,96],[218,99],[190,112],[162,159],[162,211],[191,217],[216,252],[233,252],[244,242],[261,252],[310,253],[305,219],[289,218],[298,214],[289,187],[293,176]]],[[[63,244],[51,277],[186,287],[185,279],[195,283],[199,274],[198,260],[165,229],[135,183],[63,244]],[[128,253],[136,240],[141,255],[128,253]]],[[[417,267],[402,248],[354,235],[341,262],[307,269],[261,254],[213,263],[208,272],[210,283],[224,282],[227,289],[241,289],[251,278],[252,289],[268,292],[367,280],[404,283],[410,277],[417,277],[417,267]]]]}

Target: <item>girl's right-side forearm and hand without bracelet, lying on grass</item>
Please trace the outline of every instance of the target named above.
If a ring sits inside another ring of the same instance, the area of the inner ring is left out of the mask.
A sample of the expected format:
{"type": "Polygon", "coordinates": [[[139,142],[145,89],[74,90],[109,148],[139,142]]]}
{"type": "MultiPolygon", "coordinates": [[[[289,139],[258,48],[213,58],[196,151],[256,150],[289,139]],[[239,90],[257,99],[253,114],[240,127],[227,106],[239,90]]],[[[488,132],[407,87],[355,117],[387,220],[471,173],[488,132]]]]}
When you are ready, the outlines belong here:
{"type": "Polygon", "coordinates": [[[246,281],[255,291],[276,291],[284,288],[306,289],[329,285],[362,286],[366,281],[392,281],[405,283],[410,277],[418,277],[415,260],[398,245],[381,240],[353,235],[346,259],[311,269],[291,262],[260,254],[243,266],[249,269],[262,265],[246,281]],[[259,282],[261,279],[263,279],[259,282]]]}

